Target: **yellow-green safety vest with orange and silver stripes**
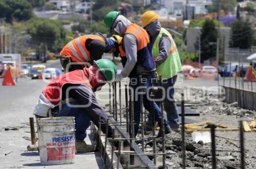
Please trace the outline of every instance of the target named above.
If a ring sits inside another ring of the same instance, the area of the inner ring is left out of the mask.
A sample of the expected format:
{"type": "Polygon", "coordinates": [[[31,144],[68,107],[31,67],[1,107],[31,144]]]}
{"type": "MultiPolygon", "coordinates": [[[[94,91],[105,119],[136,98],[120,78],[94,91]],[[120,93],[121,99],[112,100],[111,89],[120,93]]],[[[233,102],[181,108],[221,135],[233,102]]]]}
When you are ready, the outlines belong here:
{"type": "Polygon", "coordinates": [[[154,60],[159,55],[159,41],[163,35],[167,35],[171,39],[171,49],[169,51],[167,59],[156,68],[158,75],[162,75],[163,79],[170,79],[182,71],[182,65],[180,61],[180,55],[177,50],[176,44],[172,38],[172,35],[164,28],[161,28],[154,45],[152,47],[152,54],[154,60]]]}

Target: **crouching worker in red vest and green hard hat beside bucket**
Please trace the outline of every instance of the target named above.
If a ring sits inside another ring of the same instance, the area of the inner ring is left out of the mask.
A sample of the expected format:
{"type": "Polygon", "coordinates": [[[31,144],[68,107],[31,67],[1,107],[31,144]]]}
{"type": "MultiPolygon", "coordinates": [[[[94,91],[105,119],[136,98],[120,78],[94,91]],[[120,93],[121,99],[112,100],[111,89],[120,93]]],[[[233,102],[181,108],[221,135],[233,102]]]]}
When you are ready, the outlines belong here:
{"type": "MultiPolygon", "coordinates": [[[[84,142],[86,129],[91,120],[97,127],[99,117],[103,123],[107,121],[107,115],[95,99],[94,92],[105,83],[114,81],[116,73],[117,67],[112,61],[99,59],[89,68],[58,76],[43,89],[34,114],[37,118],[75,117],[77,152],[93,152],[96,147],[84,142]]],[[[104,124],[101,125],[101,131],[106,131],[104,124]]],[[[112,129],[108,127],[108,137],[111,135],[112,129]]]]}

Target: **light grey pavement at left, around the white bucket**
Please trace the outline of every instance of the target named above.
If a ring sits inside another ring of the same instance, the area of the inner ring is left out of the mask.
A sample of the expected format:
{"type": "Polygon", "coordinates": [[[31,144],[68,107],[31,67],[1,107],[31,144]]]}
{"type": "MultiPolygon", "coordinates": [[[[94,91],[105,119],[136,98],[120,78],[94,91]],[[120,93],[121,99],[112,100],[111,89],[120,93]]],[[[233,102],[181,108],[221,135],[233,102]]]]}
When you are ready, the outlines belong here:
{"type": "MultiPolygon", "coordinates": [[[[46,65],[58,67],[58,64],[58,61],[54,61],[46,65]]],[[[22,137],[30,137],[30,126],[26,123],[29,123],[29,117],[33,117],[39,94],[47,83],[42,80],[20,79],[15,86],[2,86],[2,79],[0,79],[0,84],[0,129],[7,126],[22,127],[18,131],[0,131],[0,168],[85,168],[85,161],[86,166],[90,168],[103,168],[98,153],[79,153],[76,155],[75,163],[70,165],[40,165],[39,153],[26,151],[27,145],[31,142],[22,137]],[[5,153],[10,154],[5,156],[5,153]]],[[[90,143],[88,137],[86,142],[90,143]]]]}

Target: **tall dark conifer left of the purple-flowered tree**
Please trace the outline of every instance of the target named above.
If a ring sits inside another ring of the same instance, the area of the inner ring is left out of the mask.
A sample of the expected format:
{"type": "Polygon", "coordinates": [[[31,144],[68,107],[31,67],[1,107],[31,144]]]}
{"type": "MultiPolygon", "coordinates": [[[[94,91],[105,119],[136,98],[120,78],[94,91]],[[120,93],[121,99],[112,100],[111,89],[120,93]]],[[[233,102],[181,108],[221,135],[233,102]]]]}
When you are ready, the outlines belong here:
{"type": "MultiPolygon", "coordinates": [[[[201,62],[216,57],[217,30],[214,20],[205,20],[201,29],[200,38],[201,62]]],[[[199,41],[197,40],[197,43],[195,43],[196,49],[198,49],[198,43],[199,41]]]]}

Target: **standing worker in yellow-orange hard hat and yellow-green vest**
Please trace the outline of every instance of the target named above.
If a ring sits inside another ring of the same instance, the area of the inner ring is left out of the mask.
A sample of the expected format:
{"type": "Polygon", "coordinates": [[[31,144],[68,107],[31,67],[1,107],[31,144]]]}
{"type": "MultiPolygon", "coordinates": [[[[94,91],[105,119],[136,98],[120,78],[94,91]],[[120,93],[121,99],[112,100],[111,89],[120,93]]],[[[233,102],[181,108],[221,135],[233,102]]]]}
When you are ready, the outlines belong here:
{"type": "MultiPolygon", "coordinates": [[[[154,11],[147,11],[142,14],[141,22],[143,28],[150,35],[152,54],[156,64],[158,77],[163,78],[165,89],[164,109],[167,113],[167,120],[171,129],[180,132],[180,123],[177,106],[174,100],[174,84],[177,74],[182,71],[180,56],[171,34],[161,27],[158,14],[154,11]],[[169,99],[168,99],[169,98],[169,99]]],[[[150,120],[150,119],[149,119],[150,120]]]]}

